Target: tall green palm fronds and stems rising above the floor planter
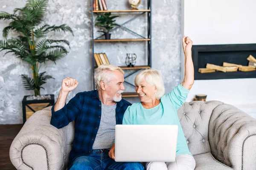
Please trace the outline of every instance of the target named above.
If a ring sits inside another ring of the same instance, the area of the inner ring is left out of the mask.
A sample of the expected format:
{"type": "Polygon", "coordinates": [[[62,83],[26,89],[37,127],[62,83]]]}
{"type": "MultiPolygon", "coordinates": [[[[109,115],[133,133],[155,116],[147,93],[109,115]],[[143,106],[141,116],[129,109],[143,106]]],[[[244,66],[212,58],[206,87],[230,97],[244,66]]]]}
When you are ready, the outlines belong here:
{"type": "MultiPolygon", "coordinates": [[[[48,79],[53,78],[46,72],[39,72],[41,64],[63,58],[70,47],[67,40],[53,40],[46,38],[49,32],[70,32],[72,29],[66,24],[60,26],[41,25],[48,5],[48,0],[27,0],[25,7],[16,8],[13,14],[0,12],[0,20],[10,20],[9,26],[3,29],[3,37],[0,40],[0,51],[12,53],[22,61],[29,63],[33,77],[21,75],[23,85],[27,90],[34,90],[35,96],[40,96],[40,89],[48,79]],[[8,39],[10,30],[17,32],[17,37],[8,39]],[[63,46],[65,45],[65,46],[63,46]]],[[[24,97],[25,98],[25,97],[24,97]]],[[[24,99],[23,99],[24,101],[24,99]]],[[[40,102],[39,102],[40,103],[40,102]]],[[[24,108],[23,108],[24,116],[24,108]]]]}

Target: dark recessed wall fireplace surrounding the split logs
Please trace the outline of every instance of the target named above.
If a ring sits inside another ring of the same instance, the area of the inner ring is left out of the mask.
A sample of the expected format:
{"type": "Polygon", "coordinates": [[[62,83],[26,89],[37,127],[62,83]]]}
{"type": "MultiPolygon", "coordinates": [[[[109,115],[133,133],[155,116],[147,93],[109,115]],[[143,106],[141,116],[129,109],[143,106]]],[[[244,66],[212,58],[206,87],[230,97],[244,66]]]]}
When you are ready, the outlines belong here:
{"type": "Polygon", "coordinates": [[[207,63],[222,66],[223,62],[227,62],[248,66],[247,57],[249,55],[256,57],[256,44],[194,45],[192,46],[192,59],[195,80],[256,78],[256,71],[198,72],[198,69],[205,68],[207,63]]]}

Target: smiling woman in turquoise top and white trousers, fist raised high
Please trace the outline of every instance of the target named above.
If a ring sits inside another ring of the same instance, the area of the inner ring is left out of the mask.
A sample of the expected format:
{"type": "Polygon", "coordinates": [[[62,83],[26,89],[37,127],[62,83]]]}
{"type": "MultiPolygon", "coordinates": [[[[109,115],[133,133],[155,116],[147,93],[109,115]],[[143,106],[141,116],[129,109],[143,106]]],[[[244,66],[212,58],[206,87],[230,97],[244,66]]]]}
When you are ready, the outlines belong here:
{"type": "Polygon", "coordinates": [[[164,95],[163,79],[156,69],[140,72],[135,80],[140,103],[129,106],[123,117],[123,124],[176,124],[178,125],[177,151],[175,162],[147,162],[147,170],[194,170],[195,159],[189,152],[183,130],[177,117],[177,110],[185,102],[189,89],[194,83],[192,62],[192,40],[182,38],[185,54],[185,75],[169,94],[164,95]]]}

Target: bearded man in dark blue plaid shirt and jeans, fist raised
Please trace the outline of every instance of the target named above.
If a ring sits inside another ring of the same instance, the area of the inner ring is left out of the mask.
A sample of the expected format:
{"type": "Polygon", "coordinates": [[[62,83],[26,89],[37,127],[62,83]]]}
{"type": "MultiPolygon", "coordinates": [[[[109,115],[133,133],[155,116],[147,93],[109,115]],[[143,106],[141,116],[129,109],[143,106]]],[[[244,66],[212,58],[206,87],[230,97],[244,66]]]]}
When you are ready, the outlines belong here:
{"type": "Polygon", "coordinates": [[[109,150],[115,138],[115,125],[122,124],[131,104],[122,99],[124,72],[117,66],[96,69],[96,90],[79,92],[68,104],[67,95],[78,86],[74,78],[62,81],[58,100],[52,107],[51,124],[57,128],[75,121],[75,138],[70,152],[70,170],[143,170],[138,162],[115,162],[109,150]]]}

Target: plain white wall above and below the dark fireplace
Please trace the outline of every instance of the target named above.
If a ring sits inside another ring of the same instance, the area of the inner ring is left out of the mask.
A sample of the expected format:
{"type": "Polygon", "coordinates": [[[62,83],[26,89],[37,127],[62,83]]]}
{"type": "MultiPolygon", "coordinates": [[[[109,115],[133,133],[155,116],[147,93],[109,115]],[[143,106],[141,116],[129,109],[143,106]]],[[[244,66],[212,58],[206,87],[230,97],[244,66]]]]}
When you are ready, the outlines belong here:
{"type": "MultiPolygon", "coordinates": [[[[255,0],[184,0],[184,34],[193,45],[256,43],[255,6],[255,0]]],[[[256,78],[195,81],[187,101],[207,94],[207,101],[256,107],[255,87],[256,78]]]]}

